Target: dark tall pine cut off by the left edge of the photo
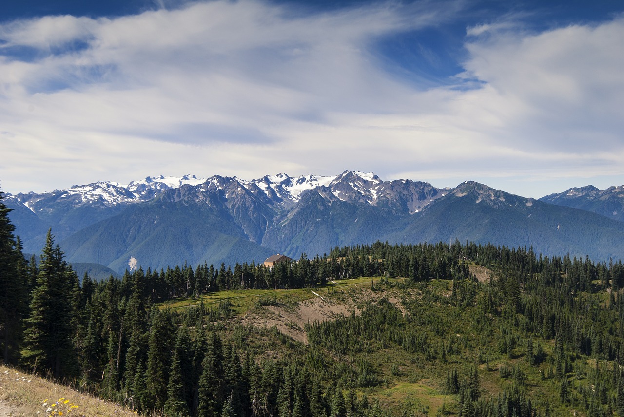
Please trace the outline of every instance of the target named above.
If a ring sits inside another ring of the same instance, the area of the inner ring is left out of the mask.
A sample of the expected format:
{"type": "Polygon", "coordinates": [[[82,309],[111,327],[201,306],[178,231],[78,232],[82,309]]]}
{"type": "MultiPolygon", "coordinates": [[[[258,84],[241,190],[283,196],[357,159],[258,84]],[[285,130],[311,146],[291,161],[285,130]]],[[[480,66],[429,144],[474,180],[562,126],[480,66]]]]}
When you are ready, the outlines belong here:
{"type": "Polygon", "coordinates": [[[0,347],[4,363],[17,364],[22,341],[22,319],[27,314],[28,290],[24,256],[15,227],[8,218],[11,209],[2,203],[0,190],[0,347]]]}

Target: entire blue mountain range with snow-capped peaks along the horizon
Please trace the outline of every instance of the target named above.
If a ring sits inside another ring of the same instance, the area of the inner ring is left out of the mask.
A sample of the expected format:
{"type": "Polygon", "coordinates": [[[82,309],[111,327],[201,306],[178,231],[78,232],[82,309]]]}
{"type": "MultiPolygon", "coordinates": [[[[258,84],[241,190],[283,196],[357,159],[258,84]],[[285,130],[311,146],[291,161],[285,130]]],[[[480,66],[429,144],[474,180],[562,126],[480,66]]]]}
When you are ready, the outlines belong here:
{"type": "Polygon", "coordinates": [[[3,201],[24,252],[39,253],[52,229],[69,262],[116,272],[135,264],[259,262],[275,253],[298,258],[376,240],[459,239],[548,256],[624,258],[624,186],[533,199],[474,181],[436,188],[344,171],[251,181],[158,176],[6,194],[3,201]]]}

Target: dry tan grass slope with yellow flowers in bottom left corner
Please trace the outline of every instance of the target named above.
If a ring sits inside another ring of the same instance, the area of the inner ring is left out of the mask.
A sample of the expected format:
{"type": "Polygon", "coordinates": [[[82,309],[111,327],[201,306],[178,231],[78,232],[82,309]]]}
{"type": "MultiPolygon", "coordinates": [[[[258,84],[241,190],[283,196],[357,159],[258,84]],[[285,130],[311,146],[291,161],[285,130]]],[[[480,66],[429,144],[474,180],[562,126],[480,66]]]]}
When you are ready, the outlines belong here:
{"type": "Polygon", "coordinates": [[[124,406],[0,365],[0,417],[51,415],[136,417],[124,406]]]}

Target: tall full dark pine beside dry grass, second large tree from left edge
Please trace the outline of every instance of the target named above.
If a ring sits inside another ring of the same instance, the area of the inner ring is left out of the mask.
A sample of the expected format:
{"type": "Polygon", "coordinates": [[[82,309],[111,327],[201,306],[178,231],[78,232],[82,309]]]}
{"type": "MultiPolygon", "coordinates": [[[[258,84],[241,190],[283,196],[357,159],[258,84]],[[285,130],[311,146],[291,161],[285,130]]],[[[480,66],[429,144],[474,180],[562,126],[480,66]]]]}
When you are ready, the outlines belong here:
{"type": "Polygon", "coordinates": [[[25,362],[32,368],[50,370],[56,378],[77,373],[76,353],[71,344],[71,295],[77,277],[63,258],[48,231],[36,287],[32,290],[31,315],[25,320],[25,362]]]}

